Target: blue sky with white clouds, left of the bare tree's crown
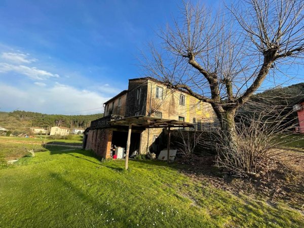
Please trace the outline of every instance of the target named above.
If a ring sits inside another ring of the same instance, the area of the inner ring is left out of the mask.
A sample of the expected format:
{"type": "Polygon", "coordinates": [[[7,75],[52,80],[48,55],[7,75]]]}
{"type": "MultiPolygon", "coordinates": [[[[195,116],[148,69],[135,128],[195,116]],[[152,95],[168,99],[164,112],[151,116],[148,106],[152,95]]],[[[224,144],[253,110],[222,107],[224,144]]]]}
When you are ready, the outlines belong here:
{"type": "Polygon", "coordinates": [[[0,111],[102,112],[104,101],[140,77],[140,50],[181,5],[0,0],[0,111]]]}

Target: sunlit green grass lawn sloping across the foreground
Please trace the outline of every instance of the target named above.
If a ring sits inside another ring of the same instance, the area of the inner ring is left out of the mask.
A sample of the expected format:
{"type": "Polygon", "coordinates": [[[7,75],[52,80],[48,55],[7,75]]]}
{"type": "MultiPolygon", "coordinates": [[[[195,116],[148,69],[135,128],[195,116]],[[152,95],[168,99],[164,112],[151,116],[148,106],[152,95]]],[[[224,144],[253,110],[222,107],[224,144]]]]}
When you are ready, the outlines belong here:
{"type": "Polygon", "coordinates": [[[197,182],[158,161],[100,162],[49,147],[0,169],[0,227],[303,227],[304,216],[197,182]]]}

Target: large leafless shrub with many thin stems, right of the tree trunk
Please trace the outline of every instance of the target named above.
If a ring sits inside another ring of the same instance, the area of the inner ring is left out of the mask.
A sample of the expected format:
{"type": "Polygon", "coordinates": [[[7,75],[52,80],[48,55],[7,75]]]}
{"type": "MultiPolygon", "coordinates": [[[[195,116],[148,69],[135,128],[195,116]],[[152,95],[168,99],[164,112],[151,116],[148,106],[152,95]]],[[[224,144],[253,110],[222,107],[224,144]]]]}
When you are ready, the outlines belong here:
{"type": "Polygon", "coordinates": [[[289,136],[293,134],[294,120],[286,118],[289,115],[282,116],[283,112],[284,108],[274,107],[243,116],[236,125],[235,145],[231,147],[225,140],[215,144],[217,167],[239,177],[268,174],[286,157],[281,148],[290,142],[289,136]]]}

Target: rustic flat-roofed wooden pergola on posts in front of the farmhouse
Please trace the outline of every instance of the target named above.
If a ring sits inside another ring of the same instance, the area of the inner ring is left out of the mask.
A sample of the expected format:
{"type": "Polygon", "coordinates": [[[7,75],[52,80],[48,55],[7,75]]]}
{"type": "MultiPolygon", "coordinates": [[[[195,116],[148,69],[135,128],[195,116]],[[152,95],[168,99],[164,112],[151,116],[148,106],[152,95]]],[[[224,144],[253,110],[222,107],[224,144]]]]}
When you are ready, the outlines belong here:
{"type": "Polygon", "coordinates": [[[120,120],[110,121],[110,122],[108,122],[108,124],[110,126],[129,127],[128,138],[127,138],[127,148],[126,148],[125,169],[128,169],[132,127],[168,128],[167,163],[169,163],[169,160],[170,160],[170,128],[194,127],[194,124],[192,124],[192,123],[187,123],[187,122],[177,121],[177,120],[160,119],[160,118],[154,118],[154,117],[146,117],[146,116],[127,117],[127,118],[123,118],[120,120]]]}

